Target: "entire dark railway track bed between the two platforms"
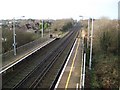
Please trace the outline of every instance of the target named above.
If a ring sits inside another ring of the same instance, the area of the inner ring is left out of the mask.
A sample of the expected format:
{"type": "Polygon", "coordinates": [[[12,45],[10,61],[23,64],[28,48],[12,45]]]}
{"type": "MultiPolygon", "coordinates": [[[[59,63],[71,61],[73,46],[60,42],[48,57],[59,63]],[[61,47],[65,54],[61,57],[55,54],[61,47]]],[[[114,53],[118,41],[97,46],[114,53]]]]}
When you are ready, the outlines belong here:
{"type": "Polygon", "coordinates": [[[44,88],[46,86],[47,88],[52,88],[60,73],[60,69],[64,65],[67,54],[76,37],[76,33],[77,30],[69,33],[63,39],[56,40],[50,45],[45,46],[43,49],[40,49],[41,52],[43,51],[42,54],[38,51],[37,54],[35,53],[31,56],[34,59],[34,62],[31,60],[31,57],[26,58],[24,62],[20,62],[21,64],[14,67],[15,71],[8,74],[11,78],[4,81],[8,76],[3,76],[3,88],[44,88]],[[47,52],[47,50],[44,51],[45,48],[50,49],[49,52],[47,52]],[[66,53],[65,50],[68,50],[68,52],[66,53]],[[41,60],[37,60],[38,56],[42,56],[39,58],[41,60]],[[61,59],[62,57],[64,57],[63,60],[61,59]],[[54,75],[52,75],[51,71],[55,71],[54,75]],[[14,73],[16,74],[16,78],[14,77],[15,75],[13,75],[14,73]],[[53,76],[53,78],[49,78],[51,80],[47,79],[50,75],[53,76]],[[49,81],[49,83],[47,82],[47,85],[45,85],[46,79],[49,81]]]}

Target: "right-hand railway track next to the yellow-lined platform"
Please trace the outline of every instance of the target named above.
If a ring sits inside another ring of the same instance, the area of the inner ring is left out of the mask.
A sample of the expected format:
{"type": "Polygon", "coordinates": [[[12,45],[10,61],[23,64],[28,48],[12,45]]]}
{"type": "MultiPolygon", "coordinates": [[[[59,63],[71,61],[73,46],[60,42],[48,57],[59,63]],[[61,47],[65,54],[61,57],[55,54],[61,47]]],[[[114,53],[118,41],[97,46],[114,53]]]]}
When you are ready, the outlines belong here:
{"type": "Polygon", "coordinates": [[[67,56],[69,55],[69,52],[71,50],[71,47],[74,43],[76,36],[75,37],[71,36],[71,38],[69,38],[68,42],[64,45],[64,49],[62,49],[62,52],[56,58],[56,61],[52,65],[52,68],[48,68],[48,71],[44,74],[44,76],[41,79],[39,79],[37,83],[35,83],[35,86],[32,88],[46,87],[51,90],[54,89],[54,86],[58,80],[58,77],[60,76],[60,73],[63,69],[63,66],[66,62],[67,56]]]}

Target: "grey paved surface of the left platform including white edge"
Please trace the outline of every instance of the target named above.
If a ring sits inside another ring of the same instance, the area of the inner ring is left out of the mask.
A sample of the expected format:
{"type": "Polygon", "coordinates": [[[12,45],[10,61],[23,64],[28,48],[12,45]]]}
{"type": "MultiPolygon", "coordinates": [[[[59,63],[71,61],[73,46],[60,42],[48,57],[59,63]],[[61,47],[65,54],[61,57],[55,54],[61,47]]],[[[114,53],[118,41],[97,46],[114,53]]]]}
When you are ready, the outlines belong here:
{"type": "Polygon", "coordinates": [[[39,45],[36,45],[33,48],[31,47],[31,49],[29,51],[24,51],[22,54],[18,54],[13,59],[8,58],[6,60],[3,60],[2,61],[2,67],[0,68],[0,73],[2,73],[4,71],[6,71],[7,69],[11,68],[15,64],[19,63],[20,61],[22,61],[23,59],[25,59],[29,55],[35,53],[37,50],[39,50],[40,48],[44,47],[45,45],[49,44],[50,42],[52,42],[54,40],[55,40],[55,38],[46,39],[45,41],[41,42],[39,45]]]}

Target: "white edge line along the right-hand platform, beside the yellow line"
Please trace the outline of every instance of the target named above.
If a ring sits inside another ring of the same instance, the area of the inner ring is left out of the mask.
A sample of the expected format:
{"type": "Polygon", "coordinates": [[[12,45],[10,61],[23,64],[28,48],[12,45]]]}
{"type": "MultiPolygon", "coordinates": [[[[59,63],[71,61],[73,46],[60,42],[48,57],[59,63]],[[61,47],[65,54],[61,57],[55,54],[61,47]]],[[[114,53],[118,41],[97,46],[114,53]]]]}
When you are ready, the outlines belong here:
{"type": "Polygon", "coordinates": [[[62,78],[62,76],[63,76],[64,71],[65,71],[65,68],[66,68],[66,66],[67,66],[67,64],[68,64],[68,61],[70,60],[71,54],[72,54],[72,52],[73,52],[73,50],[74,50],[74,48],[75,48],[76,42],[77,42],[77,39],[75,40],[75,43],[74,43],[74,45],[73,45],[73,47],[72,47],[72,50],[71,50],[71,52],[70,52],[70,54],[69,54],[69,56],[68,56],[68,58],[67,58],[67,61],[66,61],[66,63],[65,63],[65,66],[64,66],[64,68],[63,68],[63,70],[62,70],[62,72],[61,72],[61,74],[60,74],[60,77],[59,77],[59,79],[58,79],[58,81],[57,81],[54,89],[56,89],[56,88],[58,87],[59,83],[60,83],[60,80],[61,80],[61,78],[62,78]]]}

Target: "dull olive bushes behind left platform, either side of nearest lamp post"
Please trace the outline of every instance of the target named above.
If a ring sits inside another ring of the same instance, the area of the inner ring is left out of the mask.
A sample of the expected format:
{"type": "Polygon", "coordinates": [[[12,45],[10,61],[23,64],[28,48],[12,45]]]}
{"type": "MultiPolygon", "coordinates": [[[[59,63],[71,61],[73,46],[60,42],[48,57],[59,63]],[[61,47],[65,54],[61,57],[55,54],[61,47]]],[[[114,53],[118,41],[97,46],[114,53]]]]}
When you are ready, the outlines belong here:
{"type": "MultiPolygon", "coordinates": [[[[6,41],[2,41],[2,53],[13,49],[13,31],[4,29],[2,30],[2,38],[6,41]]],[[[35,40],[37,37],[33,33],[16,30],[16,43],[17,47],[24,45],[28,42],[35,40]]]]}

